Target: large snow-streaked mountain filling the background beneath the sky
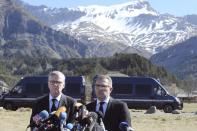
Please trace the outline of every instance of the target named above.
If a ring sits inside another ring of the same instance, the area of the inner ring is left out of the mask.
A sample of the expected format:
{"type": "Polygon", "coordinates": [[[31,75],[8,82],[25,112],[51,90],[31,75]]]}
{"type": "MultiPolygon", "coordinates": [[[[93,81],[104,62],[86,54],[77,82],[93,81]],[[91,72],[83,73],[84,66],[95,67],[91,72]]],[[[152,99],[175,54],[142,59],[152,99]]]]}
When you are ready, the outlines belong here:
{"type": "Polygon", "coordinates": [[[51,9],[40,7],[35,16],[54,21],[49,25],[87,43],[87,56],[106,56],[132,50],[155,54],[197,35],[197,26],[184,18],[160,14],[143,0],[111,5],[51,9]],[[49,13],[50,12],[50,13],[49,13]],[[50,16],[49,16],[50,14],[50,16]],[[56,16],[59,19],[57,20],[56,16]]]}

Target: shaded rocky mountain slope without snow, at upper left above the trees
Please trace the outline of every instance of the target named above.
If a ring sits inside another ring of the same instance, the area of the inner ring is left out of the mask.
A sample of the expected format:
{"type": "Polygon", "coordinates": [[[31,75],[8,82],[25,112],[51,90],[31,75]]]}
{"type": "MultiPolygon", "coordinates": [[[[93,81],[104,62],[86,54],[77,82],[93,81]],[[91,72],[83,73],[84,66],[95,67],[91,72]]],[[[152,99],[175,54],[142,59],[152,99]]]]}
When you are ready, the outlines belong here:
{"type": "Polygon", "coordinates": [[[0,57],[83,57],[86,45],[41,24],[12,0],[0,1],[0,57]]]}

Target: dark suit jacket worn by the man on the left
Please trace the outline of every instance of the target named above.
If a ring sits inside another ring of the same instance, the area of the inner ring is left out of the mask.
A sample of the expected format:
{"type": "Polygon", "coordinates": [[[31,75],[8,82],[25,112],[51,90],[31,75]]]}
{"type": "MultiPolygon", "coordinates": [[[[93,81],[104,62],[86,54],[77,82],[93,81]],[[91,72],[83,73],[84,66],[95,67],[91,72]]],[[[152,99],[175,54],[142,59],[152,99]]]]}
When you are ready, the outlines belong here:
{"type": "MultiPolygon", "coordinates": [[[[66,96],[62,94],[59,102],[59,107],[65,106],[66,107],[66,113],[68,116],[67,122],[72,122],[73,115],[74,115],[74,105],[75,100],[69,96],[66,96]]],[[[49,112],[49,95],[46,95],[42,99],[40,99],[35,106],[32,108],[32,115],[30,118],[30,123],[33,122],[32,117],[36,114],[40,113],[41,111],[46,110],[49,112]]]]}

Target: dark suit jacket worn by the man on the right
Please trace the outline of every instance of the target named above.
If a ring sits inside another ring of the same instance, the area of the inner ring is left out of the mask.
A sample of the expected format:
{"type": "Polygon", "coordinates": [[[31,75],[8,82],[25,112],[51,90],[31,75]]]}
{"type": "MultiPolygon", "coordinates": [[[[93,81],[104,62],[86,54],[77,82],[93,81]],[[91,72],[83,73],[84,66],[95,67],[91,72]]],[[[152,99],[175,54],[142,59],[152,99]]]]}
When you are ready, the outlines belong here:
{"type": "MultiPolygon", "coordinates": [[[[96,111],[96,101],[87,104],[86,107],[89,111],[96,111]]],[[[128,122],[131,126],[131,116],[127,104],[110,98],[103,122],[107,131],[120,131],[121,122],[128,122]]]]}

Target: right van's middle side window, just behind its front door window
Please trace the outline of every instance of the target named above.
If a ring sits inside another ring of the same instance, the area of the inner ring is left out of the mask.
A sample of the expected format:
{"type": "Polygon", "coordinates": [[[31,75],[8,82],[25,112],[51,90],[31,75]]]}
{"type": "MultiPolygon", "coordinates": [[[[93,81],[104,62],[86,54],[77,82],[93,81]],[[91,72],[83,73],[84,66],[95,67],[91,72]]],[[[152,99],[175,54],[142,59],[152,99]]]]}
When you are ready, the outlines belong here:
{"type": "Polygon", "coordinates": [[[140,96],[150,96],[151,95],[151,85],[148,84],[137,84],[135,86],[136,95],[140,96]]]}

